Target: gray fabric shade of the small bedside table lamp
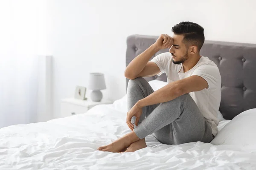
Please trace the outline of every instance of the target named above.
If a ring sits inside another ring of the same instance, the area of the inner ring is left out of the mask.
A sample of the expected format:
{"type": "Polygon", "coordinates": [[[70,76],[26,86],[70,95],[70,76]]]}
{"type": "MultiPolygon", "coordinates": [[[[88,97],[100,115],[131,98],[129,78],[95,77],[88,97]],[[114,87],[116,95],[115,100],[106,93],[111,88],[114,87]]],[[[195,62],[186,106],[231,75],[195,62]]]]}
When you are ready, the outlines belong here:
{"type": "Polygon", "coordinates": [[[106,89],[105,79],[103,73],[90,73],[89,85],[87,87],[91,90],[103,90],[106,89]]]}

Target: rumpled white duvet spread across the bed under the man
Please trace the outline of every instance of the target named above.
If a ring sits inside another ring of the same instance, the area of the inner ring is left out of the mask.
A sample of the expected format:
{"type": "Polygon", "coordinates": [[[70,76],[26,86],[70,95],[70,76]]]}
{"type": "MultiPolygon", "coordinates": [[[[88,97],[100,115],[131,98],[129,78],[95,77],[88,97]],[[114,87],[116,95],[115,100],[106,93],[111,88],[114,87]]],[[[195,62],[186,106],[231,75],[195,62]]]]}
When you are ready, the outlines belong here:
{"type": "MultiPolygon", "coordinates": [[[[256,169],[256,149],[192,142],[161,144],[153,136],[134,153],[96,151],[131,130],[125,98],[87,113],[0,129],[0,170],[172,170],[256,169]]],[[[221,121],[221,130],[229,120],[221,121]]]]}

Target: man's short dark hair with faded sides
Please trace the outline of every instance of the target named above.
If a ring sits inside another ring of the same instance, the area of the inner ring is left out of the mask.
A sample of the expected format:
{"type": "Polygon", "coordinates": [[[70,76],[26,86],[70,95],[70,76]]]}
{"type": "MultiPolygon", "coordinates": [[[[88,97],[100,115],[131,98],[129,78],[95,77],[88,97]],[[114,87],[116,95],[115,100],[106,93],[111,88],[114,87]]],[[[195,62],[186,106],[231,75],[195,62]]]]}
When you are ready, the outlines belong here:
{"type": "Polygon", "coordinates": [[[186,48],[192,44],[196,45],[198,51],[200,51],[204,44],[204,28],[197,23],[181,22],[172,27],[172,32],[184,36],[182,42],[186,45],[186,48]]]}

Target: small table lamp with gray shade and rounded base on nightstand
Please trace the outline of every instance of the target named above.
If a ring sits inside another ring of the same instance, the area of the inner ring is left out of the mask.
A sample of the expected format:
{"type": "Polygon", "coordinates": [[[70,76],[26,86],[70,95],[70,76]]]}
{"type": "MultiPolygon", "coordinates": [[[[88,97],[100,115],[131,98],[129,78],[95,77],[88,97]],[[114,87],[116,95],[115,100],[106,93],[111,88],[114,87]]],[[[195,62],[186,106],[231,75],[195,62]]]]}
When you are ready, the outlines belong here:
{"type": "Polygon", "coordinates": [[[90,73],[87,88],[93,90],[90,94],[90,99],[94,102],[100,102],[102,99],[102,92],[100,90],[106,89],[104,74],[90,73]]]}

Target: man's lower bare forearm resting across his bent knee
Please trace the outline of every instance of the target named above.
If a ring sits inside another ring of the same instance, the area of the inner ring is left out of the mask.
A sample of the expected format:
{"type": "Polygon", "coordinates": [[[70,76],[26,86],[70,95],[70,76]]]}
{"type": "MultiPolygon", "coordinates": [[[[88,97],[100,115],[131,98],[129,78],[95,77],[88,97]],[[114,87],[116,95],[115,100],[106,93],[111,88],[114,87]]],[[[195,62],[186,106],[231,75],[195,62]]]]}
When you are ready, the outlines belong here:
{"type": "Polygon", "coordinates": [[[180,90],[177,82],[171,82],[164,86],[163,88],[158,89],[154,93],[148,95],[144,99],[139,100],[136,104],[143,108],[148,105],[154,105],[157,103],[168,102],[177,98],[178,96],[183,95],[183,91],[180,90]]]}

